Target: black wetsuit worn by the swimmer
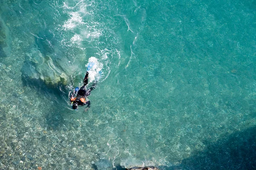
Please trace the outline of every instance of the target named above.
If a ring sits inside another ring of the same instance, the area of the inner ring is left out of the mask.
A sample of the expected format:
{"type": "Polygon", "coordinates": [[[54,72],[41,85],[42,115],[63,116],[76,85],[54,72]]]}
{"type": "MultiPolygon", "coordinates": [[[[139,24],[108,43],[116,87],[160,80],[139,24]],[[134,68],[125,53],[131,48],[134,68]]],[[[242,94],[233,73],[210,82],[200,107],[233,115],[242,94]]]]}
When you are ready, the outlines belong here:
{"type": "Polygon", "coordinates": [[[86,101],[86,99],[87,96],[90,95],[90,92],[96,87],[96,82],[93,83],[90,89],[86,89],[86,85],[88,84],[88,75],[89,72],[87,71],[84,77],[84,85],[79,89],[76,97],[74,97],[75,91],[73,92],[70,97],[70,102],[73,102],[73,104],[77,103],[79,106],[87,105],[87,108],[90,108],[90,101],[86,101]]]}

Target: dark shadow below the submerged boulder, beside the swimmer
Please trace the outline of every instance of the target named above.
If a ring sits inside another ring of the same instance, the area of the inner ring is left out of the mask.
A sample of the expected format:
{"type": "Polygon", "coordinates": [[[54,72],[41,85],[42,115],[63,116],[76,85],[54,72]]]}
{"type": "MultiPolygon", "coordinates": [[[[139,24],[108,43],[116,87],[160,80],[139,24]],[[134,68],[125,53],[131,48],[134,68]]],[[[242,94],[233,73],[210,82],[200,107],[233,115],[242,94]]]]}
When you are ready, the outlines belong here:
{"type": "MultiPolygon", "coordinates": [[[[22,82],[23,86],[35,88],[37,94],[42,96],[42,100],[45,99],[45,103],[49,103],[49,106],[44,110],[48,130],[67,131],[79,128],[78,121],[65,119],[71,110],[68,98],[69,91],[66,88],[61,88],[61,86],[58,86],[58,88],[50,88],[38,79],[28,79],[26,77],[22,77],[22,82]],[[68,107],[70,107],[70,110],[68,107]]],[[[43,104],[46,105],[45,103],[43,104]]]]}

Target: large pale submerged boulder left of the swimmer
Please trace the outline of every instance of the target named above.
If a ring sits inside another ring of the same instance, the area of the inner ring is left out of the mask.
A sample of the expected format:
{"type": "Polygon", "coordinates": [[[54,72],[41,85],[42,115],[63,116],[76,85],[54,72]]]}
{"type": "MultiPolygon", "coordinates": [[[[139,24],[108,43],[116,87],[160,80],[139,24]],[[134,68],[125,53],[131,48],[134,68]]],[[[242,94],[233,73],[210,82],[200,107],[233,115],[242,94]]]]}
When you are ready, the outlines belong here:
{"type": "Polygon", "coordinates": [[[44,82],[48,87],[57,87],[58,85],[67,85],[68,60],[59,52],[44,55],[38,49],[32,48],[26,53],[24,65],[21,69],[23,77],[26,80],[44,82]]]}

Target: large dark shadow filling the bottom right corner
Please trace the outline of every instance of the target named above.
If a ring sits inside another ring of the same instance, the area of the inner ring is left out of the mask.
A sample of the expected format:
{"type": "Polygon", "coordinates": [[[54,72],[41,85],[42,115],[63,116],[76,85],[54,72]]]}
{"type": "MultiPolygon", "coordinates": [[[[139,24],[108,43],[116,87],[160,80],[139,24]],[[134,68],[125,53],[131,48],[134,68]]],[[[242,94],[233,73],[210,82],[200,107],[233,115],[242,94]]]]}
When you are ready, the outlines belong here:
{"type": "Polygon", "coordinates": [[[256,127],[233,133],[207,146],[206,150],[184,159],[181,165],[189,170],[256,169],[256,127]]]}

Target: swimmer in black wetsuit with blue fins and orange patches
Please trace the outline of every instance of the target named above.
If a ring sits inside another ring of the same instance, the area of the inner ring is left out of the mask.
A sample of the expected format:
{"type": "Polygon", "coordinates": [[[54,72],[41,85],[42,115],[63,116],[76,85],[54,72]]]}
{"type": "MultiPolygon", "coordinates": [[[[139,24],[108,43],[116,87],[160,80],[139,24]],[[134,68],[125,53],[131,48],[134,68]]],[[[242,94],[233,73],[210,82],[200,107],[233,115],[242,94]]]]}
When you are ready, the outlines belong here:
{"type": "Polygon", "coordinates": [[[85,77],[84,77],[84,85],[78,90],[78,88],[73,91],[73,94],[70,96],[70,102],[72,105],[72,108],[74,110],[77,110],[78,106],[84,106],[87,105],[86,109],[90,108],[90,101],[87,99],[87,96],[90,95],[90,92],[96,88],[96,82],[93,82],[93,85],[90,87],[90,89],[87,89],[86,86],[88,84],[88,75],[89,70],[92,66],[88,66],[85,77]],[[78,91],[78,92],[77,92],[78,91]],[[76,95],[77,92],[77,95],[76,95]]]}

